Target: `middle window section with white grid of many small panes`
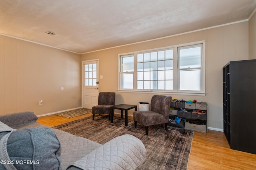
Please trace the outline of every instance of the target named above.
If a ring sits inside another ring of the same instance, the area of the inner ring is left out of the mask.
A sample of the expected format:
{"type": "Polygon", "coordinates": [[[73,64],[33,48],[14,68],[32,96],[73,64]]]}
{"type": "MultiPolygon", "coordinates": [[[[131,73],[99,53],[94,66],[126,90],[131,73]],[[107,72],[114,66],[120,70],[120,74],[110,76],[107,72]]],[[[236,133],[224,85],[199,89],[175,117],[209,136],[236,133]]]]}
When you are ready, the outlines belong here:
{"type": "Polygon", "coordinates": [[[137,89],[172,90],[173,50],[137,54],[137,89]]]}

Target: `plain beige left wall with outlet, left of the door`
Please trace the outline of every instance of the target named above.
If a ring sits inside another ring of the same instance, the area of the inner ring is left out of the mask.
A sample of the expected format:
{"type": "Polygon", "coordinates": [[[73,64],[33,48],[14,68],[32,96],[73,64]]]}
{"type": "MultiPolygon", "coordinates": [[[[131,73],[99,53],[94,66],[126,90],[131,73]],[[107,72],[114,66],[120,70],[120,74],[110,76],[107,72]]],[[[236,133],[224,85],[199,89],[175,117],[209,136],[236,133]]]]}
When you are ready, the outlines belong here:
{"type": "Polygon", "coordinates": [[[79,54],[0,35],[0,115],[81,107],[80,70],[79,54]]]}

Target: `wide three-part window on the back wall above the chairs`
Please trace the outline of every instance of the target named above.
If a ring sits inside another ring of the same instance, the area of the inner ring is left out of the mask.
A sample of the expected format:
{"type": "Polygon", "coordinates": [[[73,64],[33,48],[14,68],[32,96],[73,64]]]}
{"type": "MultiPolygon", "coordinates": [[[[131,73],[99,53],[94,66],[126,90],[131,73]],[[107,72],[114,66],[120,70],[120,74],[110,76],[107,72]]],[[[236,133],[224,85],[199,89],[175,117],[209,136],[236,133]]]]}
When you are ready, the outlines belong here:
{"type": "Polygon", "coordinates": [[[205,93],[205,42],[138,51],[119,57],[119,90],[205,93]]]}

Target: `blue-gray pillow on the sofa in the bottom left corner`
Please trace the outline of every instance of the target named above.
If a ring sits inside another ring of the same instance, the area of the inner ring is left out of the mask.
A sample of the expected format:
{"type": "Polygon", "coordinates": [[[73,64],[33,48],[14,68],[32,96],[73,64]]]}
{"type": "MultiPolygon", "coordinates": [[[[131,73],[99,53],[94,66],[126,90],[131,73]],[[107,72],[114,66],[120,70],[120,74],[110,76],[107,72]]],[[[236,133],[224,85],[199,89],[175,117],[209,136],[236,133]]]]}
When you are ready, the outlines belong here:
{"type": "MultiPolygon", "coordinates": [[[[61,169],[60,141],[51,128],[34,127],[0,132],[0,145],[2,145],[0,146],[1,161],[8,161],[8,159],[9,162],[12,161],[14,164],[9,164],[12,169],[61,169]],[[10,136],[5,143],[3,140],[8,135],[10,136]]],[[[0,164],[0,169],[5,169],[3,164],[0,164]]]]}

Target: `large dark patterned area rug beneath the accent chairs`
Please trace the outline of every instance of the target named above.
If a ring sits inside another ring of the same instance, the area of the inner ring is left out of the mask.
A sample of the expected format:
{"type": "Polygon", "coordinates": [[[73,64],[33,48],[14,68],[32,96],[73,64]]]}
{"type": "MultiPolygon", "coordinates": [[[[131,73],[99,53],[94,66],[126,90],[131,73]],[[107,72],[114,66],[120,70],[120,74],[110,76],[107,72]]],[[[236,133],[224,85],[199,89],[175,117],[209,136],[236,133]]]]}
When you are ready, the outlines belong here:
{"type": "Polygon", "coordinates": [[[168,131],[161,126],[149,127],[148,136],[145,127],[138,124],[134,128],[134,121],[128,119],[128,126],[124,126],[124,119],[114,117],[113,123],[108,116],[95,115],[64,123],[54,128],[71,134],[88,138],[94,142],[104,144],[116,136],[132,134],[139,138],[146,147],[146,160],[138,166],[138,170],[186,170],[190,155],[194,131],[168,126],[168,131]]]}

